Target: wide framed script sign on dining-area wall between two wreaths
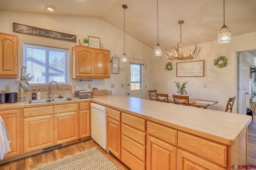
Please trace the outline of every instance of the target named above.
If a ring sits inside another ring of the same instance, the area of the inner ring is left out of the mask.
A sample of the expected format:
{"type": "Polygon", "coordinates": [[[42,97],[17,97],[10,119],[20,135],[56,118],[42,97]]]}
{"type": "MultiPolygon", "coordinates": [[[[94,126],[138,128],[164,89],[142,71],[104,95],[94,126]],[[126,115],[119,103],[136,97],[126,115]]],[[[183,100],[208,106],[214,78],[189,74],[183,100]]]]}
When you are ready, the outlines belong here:
{"type": "Polygon", "coordinates": [[[176,63],[176,77],[204,77],[204,60],[176,63]]]}

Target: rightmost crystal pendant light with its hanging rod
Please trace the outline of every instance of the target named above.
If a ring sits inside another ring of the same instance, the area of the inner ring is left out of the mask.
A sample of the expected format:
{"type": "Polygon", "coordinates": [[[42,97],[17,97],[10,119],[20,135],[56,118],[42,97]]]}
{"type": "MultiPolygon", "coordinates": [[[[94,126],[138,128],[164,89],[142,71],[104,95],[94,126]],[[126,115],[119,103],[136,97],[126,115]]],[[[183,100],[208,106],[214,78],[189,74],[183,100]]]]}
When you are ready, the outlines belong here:
{"type": "Polygon", "coordinates": [[[218,43],[228,43],[230,42],[231,39],[231,28],[225,26],[225,0],[223,0],[223,9],[224,9],[224,24],[222,28],[218,30],[218,43]]]}

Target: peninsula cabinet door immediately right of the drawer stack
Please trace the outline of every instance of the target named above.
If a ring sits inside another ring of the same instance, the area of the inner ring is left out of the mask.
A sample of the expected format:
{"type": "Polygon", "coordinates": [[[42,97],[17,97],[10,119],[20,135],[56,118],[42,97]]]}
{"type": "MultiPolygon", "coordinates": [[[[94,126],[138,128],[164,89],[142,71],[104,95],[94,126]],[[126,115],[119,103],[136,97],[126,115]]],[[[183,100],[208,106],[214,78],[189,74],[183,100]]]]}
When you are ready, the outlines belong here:
{"type": "Polygon", "coordinates": [[[176,170],[177,148],[148,136],[147,170],[176,170]]]}

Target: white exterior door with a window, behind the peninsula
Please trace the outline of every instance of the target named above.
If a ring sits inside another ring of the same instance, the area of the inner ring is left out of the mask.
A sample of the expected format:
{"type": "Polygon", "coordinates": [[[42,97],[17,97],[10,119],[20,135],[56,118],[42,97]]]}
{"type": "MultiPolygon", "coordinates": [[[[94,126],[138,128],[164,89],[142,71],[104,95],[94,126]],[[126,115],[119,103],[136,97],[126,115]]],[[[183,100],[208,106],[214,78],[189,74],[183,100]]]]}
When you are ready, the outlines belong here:
{"type": "Polygon", "coordinates": [[[126,96],[146,99],[146,61],[127,59],[126,96]]]}

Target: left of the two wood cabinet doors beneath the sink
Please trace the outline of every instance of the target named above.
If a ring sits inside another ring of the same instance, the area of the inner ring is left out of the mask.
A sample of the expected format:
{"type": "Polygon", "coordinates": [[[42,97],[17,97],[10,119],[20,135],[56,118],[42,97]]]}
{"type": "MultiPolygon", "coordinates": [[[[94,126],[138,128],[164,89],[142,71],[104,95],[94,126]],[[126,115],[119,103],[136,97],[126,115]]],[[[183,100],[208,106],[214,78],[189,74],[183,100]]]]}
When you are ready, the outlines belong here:
{"type": "Polygon", "coordinates": [[[54,145],[53,115],[23,119],[24,152],[54,145]]]}

